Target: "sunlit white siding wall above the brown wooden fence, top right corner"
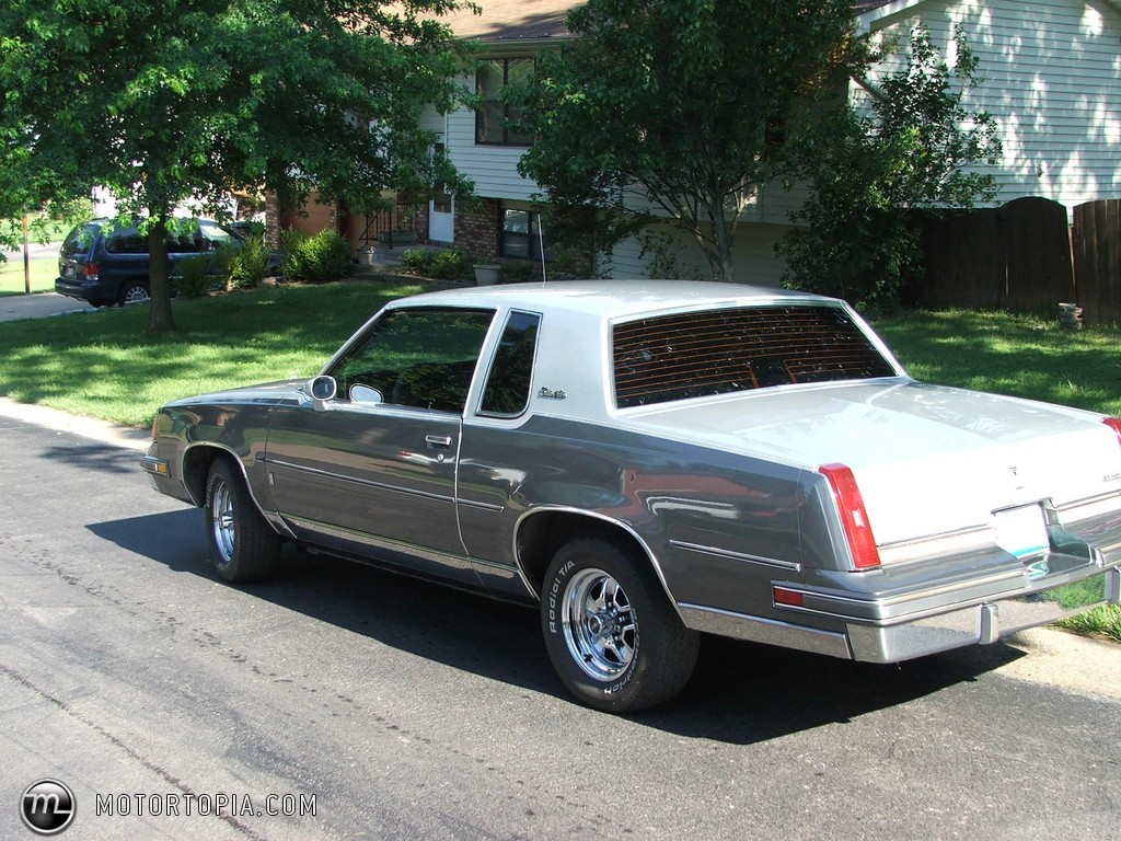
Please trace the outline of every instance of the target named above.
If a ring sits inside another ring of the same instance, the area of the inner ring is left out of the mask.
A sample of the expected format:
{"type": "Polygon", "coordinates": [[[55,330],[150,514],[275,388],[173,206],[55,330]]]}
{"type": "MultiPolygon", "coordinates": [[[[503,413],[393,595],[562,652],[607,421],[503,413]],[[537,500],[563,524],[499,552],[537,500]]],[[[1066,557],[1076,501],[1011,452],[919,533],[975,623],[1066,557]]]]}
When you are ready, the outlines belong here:
{"type": "MultiPolygon", "coordinates": [[[[876,21],[906,48],[924,24],[948,55],[955,24],[980,59],[970,108],[1000,126],[998,203],[1045,196],[1068,209],[1121,195],[1121,15],[1085,0],[929,0],[876,21]]],[[[898,70],[902,55],[884,63],[898,70]]],[[[856,94],[859,98],[859,93],[856,94]]]]}

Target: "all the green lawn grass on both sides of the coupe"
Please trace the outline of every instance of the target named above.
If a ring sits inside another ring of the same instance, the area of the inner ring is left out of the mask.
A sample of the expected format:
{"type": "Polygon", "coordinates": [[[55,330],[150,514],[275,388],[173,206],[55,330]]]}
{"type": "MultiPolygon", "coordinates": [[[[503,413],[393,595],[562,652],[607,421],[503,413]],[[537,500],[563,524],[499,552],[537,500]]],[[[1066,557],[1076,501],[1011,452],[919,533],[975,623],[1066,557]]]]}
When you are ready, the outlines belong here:
{"type": "MultiPolygon", "coordinates": [[[[146,307],[3,323],[0,395],[143,427],[177,397],[311,376],[382,303],[421,288],[350,280],[177,301],[179,330],[158,339],[145,334],[146,307]]],[[[972,311],[907,313],[876,327],[918,379],[1121,416],[1115,329],[1072,332],[972,311]]],[[[1121,641],[1121,606],[1066,626],[1121,641]]]]}

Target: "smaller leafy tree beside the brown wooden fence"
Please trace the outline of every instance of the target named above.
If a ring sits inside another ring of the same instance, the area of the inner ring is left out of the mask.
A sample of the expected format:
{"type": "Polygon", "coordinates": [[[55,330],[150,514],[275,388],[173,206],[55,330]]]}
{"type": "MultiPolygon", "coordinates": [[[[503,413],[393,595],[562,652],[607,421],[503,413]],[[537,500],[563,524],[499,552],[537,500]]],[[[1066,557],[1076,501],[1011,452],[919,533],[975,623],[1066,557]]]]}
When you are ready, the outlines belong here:
{"type": "Polygon", "coordinates": [[[993,176],[969,167],[1000,159],[998,127],[966,107],[978,59],[961,29],[953,38],[949,65],[917,27],[906,67],[865,83],[871,113],[846,105],[802,135],[795,157],[810,197],[781,243],[788,286],[890,308],[923,270],[915,211],[994,196],[993,176]]]}

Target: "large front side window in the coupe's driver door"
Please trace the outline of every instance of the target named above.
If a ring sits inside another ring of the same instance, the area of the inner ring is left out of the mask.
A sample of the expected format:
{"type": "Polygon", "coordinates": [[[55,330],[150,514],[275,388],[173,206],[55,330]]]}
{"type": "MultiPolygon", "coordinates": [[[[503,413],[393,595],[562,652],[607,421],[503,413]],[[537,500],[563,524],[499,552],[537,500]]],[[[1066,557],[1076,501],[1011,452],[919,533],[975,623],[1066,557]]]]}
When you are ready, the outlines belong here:
{"type": "MultiPolygon", "coordinates": [[[[492,309],[415,307],[393,309],[327,371],[341,399],[362,401],[370,389],[393,406],[462,413],[492,309]]],[[[377,400],[373,400],[377,403],[377,400]]]]}

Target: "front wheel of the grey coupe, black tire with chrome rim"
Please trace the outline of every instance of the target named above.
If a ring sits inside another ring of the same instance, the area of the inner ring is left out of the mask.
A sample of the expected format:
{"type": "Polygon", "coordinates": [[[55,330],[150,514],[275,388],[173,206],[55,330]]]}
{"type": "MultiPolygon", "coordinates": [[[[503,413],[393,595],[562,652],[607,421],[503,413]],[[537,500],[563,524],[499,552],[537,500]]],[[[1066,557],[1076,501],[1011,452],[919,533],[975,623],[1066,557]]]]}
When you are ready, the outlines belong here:
{"type": "Polygon", "coordinates": [[[206,478],[206,542],[214,571],[226,581],[270,579],[280,561],[280,536],[257,510],[244,480],[225,459],[206,478]]]}

